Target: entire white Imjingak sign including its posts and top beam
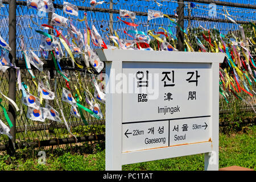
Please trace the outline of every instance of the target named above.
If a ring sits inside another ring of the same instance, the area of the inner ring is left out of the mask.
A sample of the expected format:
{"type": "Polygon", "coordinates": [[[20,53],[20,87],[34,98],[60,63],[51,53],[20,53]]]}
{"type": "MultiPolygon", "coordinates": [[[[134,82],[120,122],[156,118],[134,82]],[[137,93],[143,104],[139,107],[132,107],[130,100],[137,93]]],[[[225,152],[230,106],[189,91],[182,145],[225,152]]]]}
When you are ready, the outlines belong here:
{"type": "Polygon", "coordinates": [[[106,170],[205,154],[218,170],[222,53],[98,49],[106,63],[106,170]]]}

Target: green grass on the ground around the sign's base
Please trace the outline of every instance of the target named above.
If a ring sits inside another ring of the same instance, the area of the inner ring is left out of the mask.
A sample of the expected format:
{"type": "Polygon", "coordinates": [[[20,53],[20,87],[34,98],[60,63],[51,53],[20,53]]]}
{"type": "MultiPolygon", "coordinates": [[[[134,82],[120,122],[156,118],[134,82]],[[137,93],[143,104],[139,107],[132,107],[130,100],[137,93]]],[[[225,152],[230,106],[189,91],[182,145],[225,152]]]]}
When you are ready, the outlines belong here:
{"type": "MultiPolygon", "coordinates": [[[[240,133],[220,133],[219,167],[241,166],[256,169],[256,126],[245,127],[240,133]]],[[[104,171],[104,143],[96,144],[96,153],[89,151],[71,154],[61,149],[47,154],[46,164],[38,164],[38,156],[24,159],[17,156],[7,164],[7,155],[0,155],[0,170],[17,171],[104,171]]],[[[74,153],[74,152],[73,152],[74,153]]],[[[129,171],[201,171],[204,170],[204,155],[155,160],[129,164],[122,167],[129,171]]]]}

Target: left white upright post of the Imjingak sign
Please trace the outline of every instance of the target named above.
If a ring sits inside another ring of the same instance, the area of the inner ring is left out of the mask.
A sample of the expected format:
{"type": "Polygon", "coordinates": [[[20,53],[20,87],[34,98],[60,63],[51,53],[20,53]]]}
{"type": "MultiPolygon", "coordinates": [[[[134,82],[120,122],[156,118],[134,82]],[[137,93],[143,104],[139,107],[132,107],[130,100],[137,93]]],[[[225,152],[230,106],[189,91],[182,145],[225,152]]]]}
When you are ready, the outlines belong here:
{"type": "Polygon", "coordinates": [[[115,77],[122,62],[106,62],[106,171],[121,171],[122,93],[115,90],[115,77]]]}

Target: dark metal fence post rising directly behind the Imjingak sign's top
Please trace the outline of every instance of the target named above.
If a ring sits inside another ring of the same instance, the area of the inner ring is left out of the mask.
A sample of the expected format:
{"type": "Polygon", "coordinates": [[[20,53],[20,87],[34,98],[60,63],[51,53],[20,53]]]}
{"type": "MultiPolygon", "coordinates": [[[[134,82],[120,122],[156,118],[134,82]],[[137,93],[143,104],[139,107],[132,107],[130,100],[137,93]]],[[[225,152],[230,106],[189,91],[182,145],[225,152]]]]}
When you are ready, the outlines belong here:
{"type": "Polygon", "coordinates": [[[177,49],[179,51],[184,51],[184,32],[180,30],[184,30],[184,1],[183,0],[178,0],[178,7],[177,7],[177,15],[178,15],[178,20],[177,23],[179,26],[177,26],[177,49]]]}

